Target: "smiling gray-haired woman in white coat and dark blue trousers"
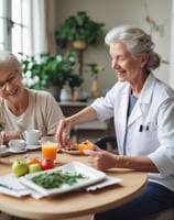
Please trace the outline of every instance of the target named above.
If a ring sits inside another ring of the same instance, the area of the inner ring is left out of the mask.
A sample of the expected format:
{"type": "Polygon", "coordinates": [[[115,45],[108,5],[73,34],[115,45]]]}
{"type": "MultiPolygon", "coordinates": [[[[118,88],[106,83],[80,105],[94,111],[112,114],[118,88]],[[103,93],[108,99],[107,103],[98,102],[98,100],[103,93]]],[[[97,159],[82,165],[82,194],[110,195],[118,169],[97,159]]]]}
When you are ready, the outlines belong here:
{"type": "Polygon", "coordinates": [[[67,141],[72,125],[115,118],[119,155],[97,146],[87,151],[95,168],[131,168],[149,173],[145,190],[130,202],[95,215],[95,220],[140,220],[174,206],[174,91],[155,78],[160,56],[144,31],[118,26],[106,35],[111,67],[118,82],[90,107],[61,121],[59,143],[67,141]]]}

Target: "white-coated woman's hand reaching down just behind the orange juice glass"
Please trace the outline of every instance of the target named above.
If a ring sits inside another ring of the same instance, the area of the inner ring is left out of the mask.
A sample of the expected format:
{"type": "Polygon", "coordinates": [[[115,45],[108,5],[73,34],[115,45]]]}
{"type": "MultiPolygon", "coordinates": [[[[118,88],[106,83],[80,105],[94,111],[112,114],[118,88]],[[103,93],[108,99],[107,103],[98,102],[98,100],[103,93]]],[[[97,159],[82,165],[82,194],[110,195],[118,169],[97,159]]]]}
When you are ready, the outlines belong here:
{"type": "Polygon", "coordinates": [[[69,135],[70,130],[72,130],[72,122],[69,118],[59,120],[58,127],[55,131],[55,139],[62,146],[65,146],[65,144],[68,143],[70,138],[69,135]]]}

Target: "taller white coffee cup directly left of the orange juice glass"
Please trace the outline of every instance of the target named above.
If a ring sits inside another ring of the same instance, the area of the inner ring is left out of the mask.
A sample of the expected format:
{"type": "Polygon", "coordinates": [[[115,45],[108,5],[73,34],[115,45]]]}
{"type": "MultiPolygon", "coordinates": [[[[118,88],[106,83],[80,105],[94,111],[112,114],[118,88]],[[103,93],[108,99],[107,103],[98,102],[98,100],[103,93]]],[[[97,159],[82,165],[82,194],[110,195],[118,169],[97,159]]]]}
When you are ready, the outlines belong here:
{"type": "Polygon", "coordinates": [[[37,145],[41,136],[40,130],[26,130],[23,132],[23,138],[26,142],[26,145],[37,145]]]}

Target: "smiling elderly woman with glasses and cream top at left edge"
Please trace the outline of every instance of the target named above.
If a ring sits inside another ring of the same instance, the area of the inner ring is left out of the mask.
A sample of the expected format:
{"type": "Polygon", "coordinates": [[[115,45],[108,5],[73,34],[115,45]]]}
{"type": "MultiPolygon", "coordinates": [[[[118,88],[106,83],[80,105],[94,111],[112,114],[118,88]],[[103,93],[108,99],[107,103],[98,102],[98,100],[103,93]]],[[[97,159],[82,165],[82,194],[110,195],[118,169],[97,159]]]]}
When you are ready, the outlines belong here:
{"type": "Polygon", "coordinates": [[[63,112],[47,91],[28,89],[22,84],[22,64],[9,51],[0,51],[0,122],[6,123],[3,141],[22,139],[22,132],[37,129],[52,134],[63,112]]]}

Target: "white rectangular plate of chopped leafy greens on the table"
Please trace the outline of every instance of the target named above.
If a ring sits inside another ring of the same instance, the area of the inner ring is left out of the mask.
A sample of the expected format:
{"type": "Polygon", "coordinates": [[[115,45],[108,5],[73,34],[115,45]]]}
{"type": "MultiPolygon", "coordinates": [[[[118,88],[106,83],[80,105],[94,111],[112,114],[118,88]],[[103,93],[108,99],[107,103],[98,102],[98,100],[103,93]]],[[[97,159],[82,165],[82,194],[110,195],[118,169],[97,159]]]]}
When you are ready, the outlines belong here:
{"type": "Polygon", "coordinates": [[[20,177],[20,182],[43,196],[52,196],[76,190],[99,183],[105,178],[104,172],[80,162],[72,162],[45,172],[28,174],[20,177]]]}

